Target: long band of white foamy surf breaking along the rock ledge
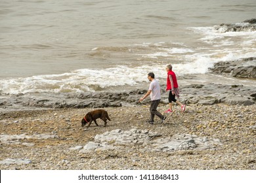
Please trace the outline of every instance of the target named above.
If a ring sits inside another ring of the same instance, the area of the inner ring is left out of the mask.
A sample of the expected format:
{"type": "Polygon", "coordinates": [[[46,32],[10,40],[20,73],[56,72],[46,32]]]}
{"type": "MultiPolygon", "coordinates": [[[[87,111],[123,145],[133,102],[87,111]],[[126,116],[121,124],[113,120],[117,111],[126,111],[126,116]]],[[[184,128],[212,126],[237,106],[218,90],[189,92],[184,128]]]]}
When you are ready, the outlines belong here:
{"type": "MultiPolygon", "coordinates": [[[[230,61],[245,56],[256,57],[255,52],[246,54],[236,50],[219,50],[208,54],[186,54],[184,63],[172,62],[173,71],[178,77],[183,75],[204,74],[209,67],[218,61],[230,61]]],[[[165,66],[168,62],[142,65],[140,67],[117,66],[108,69],[78,69],[60,75],[37,75],[26,78],[11,78],[0,80],[1,94],[18,93],[67,93],[67,92],[96,92],[107,88],[125,86],[139,87],[148,82],[147,74],[155,73],[156,78],[165,83],[165,66]]],[[[121,89],[122,88],[122,89],[121,89]]],[[[117,89],[118,90],[118,89],[117,89]]]]}

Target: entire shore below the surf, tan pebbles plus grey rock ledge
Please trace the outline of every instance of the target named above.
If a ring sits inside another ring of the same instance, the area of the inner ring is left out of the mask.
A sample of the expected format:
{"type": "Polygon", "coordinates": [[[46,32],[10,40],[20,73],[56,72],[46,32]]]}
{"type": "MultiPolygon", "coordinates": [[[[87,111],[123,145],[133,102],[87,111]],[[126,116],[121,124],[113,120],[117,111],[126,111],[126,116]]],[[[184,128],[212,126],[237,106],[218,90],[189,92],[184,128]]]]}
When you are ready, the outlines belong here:
{"type": "MultiPolygon", "coordinates": [[[[163,112],[168,93],[161,90],[163,112]]],[[[10,95],[1,100],[0,168],[256,169],[255,86],[182,85],[186,111],[175,105],[163,124],[156,117],[154,125],[146,123],[149,99],[137,103],[146,91],[10,95]],[[108,111],[107,127],[101,120],[98,127],[81,127],[96,108],[108,111]]]]}

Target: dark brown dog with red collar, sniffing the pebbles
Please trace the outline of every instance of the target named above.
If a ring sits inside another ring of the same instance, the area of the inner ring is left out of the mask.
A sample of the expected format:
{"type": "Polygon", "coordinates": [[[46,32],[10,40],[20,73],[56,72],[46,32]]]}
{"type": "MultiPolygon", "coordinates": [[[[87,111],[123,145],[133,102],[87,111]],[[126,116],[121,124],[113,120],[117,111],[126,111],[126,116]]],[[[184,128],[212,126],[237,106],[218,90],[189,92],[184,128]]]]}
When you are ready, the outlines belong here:
{"type": "MultiPolygon", "coordinates": [[[[88,112],[85,117],[83,117],[81,123],[82,127],[87,124],[87,127],[91,125],[91,122],[95,122],[95,124],[98,126],[96,123],[96,119],[102,119],[104,121],[104,127],[106,127],[106,120],[110,120],[110,117],[108,116],[108,112],[106,110],[98,109],[98,110],[93,110],[91,112],[88,112]]],[[[111,121],[111,120],[110,120],[111,121]]]]}

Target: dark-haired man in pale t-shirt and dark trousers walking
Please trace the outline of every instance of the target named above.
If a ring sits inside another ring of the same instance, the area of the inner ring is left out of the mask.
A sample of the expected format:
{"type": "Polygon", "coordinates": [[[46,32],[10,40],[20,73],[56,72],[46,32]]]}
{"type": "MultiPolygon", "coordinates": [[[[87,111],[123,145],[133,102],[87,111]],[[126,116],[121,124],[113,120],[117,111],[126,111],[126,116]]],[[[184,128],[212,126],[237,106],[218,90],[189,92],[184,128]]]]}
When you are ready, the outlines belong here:
{"type": "Polygon", "coordinates": [[[156,108],[160,103],[161,99],[161,89],[158,80],[155,79],[154,73],[148,73],[148,80],[150,81],[150,87],[148,92],[139,99],[139,102],[143,101],[148,95],[150,95],[151,103],[150,103],[150,120],[148,121],[149,124],[154,124],[154,116],[158,116],[161,119],[161,124],[166,119],[166,116],[163,116],[156,108]]]}

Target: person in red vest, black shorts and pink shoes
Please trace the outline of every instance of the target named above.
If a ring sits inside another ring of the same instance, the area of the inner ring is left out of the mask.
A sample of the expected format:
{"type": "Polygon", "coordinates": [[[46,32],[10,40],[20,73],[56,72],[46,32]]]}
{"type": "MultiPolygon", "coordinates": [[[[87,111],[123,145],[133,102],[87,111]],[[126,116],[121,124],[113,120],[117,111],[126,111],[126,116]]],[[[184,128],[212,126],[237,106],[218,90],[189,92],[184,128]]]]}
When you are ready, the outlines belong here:
{"type": "Polygon", "coordinates": [[[168,64],[166,66],[166,71],[167,71],[167,88],[166,88],[166,91],[170,90],[170,92],[169,92],[169,97],[168,97],[169,108],[165,112],[167,112],[167,113],[173,112],[173,103],[172,102],[175,102],[178,105],[180,105],[181,106],[181,111],[184,112],[185,108],[186,108],[186,105],[183,105],[180,101],[177,101],[177,99],[175,99],[175,96],[177,96],[178,99],[179,99],[179,93],[180,92],[179,92],[179,85],[178,85],[178,82],[177,82],[176,75],[175,75],[175,73],[173,72],[172,69],[173,69],[173,66],[171,66],[171,64],[168,64]]]}

